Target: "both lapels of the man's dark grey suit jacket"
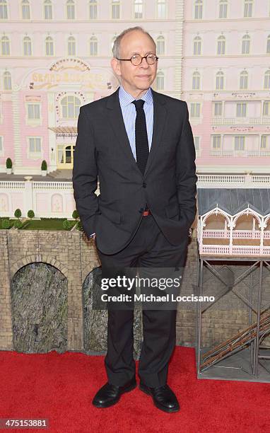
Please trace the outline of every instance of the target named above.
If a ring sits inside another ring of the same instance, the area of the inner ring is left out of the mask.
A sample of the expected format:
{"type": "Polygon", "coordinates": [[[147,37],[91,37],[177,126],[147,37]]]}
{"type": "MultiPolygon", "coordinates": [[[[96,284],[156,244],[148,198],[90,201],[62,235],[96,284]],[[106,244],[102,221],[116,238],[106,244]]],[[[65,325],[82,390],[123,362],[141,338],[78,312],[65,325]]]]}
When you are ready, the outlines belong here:
{"type": "MultiPolygon", "coordinates": [[[[133,163],[136,166],[136,169],[141,174],[141,171],[137,166],[136,160],[131,151],[131,146],[129,144],[129,137],[127,136],[127,131],[124,126],[124,120],[123,120],[122,110],[119,103],[118,92],[119,92],[119,88],[117,88],[117,90],[114,93],[112,93],[112,95],[110,95],[109,98],[107,99],[108,117],[112,129],[114,130],[115,135],[117,137],[118,144],[119,146],[122,146],[122,151],[124,155],[127,156],[127,158],[129,158],[129,161],[131,161],[131,163],[133,163]]],[[[149,152],[144,176],[146,175],[147,171],[151,167],[155,155],[157,154],[158,146],[160,145],[160,139],[162,136],[163,128],[167,117],[167,110],[165,108],[165,98],[163,98],[163,95],[161,95],[160,93],[153,91],[153,89],[152,89],[152,94],[153,94],[153,137],[152,137],[151,149],[149,152]]]]}

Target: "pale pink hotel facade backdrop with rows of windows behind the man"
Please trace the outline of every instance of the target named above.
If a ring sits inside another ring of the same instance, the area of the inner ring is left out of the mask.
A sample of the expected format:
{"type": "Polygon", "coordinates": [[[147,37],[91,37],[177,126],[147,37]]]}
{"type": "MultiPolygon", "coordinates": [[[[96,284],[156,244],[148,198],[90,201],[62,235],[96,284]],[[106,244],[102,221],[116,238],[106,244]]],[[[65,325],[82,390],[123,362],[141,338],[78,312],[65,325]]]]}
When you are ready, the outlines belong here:
{"type": "Polygon", "coordinates": [[[71,216],[78,110],[119,85],[112,42],[134,25],[157,43],[153,88],[187,100],[200,179],[269,187],[269,17],[269,0],[0,0],[1,216],[71,216]]]}

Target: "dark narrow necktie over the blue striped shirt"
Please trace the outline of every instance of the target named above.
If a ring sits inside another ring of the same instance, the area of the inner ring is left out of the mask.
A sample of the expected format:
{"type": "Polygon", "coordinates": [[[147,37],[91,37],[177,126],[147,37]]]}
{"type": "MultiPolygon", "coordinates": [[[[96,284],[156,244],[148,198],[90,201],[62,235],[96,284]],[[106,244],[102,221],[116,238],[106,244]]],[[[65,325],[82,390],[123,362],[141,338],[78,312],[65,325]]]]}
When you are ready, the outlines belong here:
{"type": "Polygon", "coordinates": [[[135,121],[135,139],[136,139],[136,163],[141,173],[146,169],[146,163],[149,155],[148,137],[146,129],[146,115],[143,110],[144,100],[133,100],[132,103],[136,107],[135,121]]]}

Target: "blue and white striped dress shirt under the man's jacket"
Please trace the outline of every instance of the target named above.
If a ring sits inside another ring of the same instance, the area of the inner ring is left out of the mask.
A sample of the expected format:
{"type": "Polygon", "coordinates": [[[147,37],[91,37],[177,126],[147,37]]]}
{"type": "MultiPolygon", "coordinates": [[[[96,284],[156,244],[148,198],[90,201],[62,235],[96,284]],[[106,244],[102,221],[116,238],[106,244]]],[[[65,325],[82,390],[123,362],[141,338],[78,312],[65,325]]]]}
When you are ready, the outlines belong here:
{"type": "MultiPolygon", "coordinates": [[[[145,103],[143,104],[143,110],[146,114],[146,129],[148,136],[148,147],[149,151],[152,144],[153,135],[153,95],[151,87],[148,91],[144,93],[141,98],[145,103]]],[[[129,137],[129,144],[131,146],[132,154],[136,159],[136,140],[135,140],[135,120],[136,120],[136,107],[132,104],[134,97],[124,90],[123,86],[119,87],[119,103],[122,110],[122,115],[124,119],[124,126],[126,127],[127,137],[129,137]]]]}

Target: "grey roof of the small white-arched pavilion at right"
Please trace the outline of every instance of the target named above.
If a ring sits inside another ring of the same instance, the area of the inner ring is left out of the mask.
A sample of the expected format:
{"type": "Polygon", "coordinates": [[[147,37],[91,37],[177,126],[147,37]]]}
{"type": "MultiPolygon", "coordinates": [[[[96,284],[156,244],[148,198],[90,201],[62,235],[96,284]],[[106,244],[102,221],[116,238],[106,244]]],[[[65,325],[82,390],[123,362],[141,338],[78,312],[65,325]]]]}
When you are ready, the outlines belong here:
{"type": "Polygon", "coordinates": [[[198,212],[204,215],[217,205],[230,215],[246,207],[261,215],[270,213],[270,189],[198,188],[198,212]]]}

